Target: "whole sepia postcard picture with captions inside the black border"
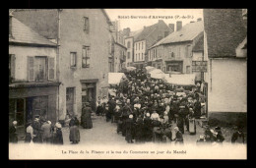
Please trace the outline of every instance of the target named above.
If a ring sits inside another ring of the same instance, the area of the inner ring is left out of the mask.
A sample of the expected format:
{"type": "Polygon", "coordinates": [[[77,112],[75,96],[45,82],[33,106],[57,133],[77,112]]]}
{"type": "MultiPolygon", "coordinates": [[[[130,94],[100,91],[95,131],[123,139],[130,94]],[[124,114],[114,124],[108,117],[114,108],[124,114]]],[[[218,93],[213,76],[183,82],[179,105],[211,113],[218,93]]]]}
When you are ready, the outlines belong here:
{"type": "Polygon", "coordinates": [[[247,9],[9,9],[9,159],[247,159],[247,9]]]}

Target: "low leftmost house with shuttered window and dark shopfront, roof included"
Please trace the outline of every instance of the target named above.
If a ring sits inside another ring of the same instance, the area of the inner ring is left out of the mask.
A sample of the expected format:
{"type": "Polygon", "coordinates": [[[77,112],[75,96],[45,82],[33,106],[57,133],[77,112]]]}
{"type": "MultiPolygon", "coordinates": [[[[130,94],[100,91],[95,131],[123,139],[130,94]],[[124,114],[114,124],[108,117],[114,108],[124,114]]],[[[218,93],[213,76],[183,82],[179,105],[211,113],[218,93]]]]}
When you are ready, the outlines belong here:
{"type": "Polygon", "coordinates": [[[56,43],[27,27],[11,14],[9,25],[9,122],[18,122],[18,139],[35,115],[58,119],[56,43]]]}

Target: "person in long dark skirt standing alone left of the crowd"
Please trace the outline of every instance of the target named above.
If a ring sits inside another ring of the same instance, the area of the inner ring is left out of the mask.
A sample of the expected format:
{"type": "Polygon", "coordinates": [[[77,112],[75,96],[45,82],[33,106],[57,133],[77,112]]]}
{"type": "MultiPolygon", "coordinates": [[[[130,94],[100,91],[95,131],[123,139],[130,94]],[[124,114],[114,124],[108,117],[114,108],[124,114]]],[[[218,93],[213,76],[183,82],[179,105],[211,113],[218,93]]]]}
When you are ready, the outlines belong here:
{"type": "Polygon", "coordinates": [[[76,116],[73,116],[69,123],[69,140],[72,143],[78,143],[80,141],[80,132],[79,132],[79,121],[76,116]]]}

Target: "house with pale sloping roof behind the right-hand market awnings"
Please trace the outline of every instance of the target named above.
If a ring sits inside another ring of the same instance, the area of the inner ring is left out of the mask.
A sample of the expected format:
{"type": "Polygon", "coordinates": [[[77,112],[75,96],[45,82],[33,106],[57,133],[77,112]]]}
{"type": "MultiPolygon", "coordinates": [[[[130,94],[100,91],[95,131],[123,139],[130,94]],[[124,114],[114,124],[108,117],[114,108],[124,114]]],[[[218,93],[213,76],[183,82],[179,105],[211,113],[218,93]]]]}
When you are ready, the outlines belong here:
{"type": "Polygon", "coordinates": [[[192,49],[204,34],[203,22],[200,20],[183,28],[177,22],[177,27],[177,31],[150,47],[149,62],[167,74],[191,74],[192,49]]]}

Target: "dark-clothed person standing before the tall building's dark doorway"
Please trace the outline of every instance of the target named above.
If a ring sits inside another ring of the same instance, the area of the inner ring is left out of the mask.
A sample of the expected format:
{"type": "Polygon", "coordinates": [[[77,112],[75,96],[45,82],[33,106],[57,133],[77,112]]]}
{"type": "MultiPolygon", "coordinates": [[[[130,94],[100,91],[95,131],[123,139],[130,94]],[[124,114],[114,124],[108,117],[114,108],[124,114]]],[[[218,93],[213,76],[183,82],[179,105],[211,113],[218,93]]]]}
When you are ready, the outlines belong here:
{"type": "Polygon", "coordinates": [[[81,125],[84,129],[92,129],[93,128],[93,122],[91,114],[93,113],[92,108],[90,107],[90,103],[86,102],[86,107],[82,110],[81,115],[81,125]]]}

